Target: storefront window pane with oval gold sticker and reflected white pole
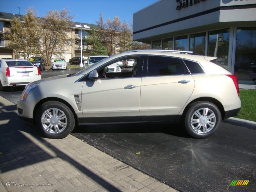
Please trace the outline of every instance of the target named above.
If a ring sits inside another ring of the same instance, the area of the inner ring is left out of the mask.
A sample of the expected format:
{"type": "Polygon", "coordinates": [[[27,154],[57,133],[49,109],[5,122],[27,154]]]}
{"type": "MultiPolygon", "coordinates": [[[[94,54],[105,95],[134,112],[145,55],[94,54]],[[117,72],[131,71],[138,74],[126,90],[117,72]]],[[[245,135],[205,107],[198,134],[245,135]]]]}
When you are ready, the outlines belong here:
{"type": "Polygon", "coordinates": [[[218,62],[228,69],[229,29],[209,31],[208,56],[218,57],[218,62]]]}

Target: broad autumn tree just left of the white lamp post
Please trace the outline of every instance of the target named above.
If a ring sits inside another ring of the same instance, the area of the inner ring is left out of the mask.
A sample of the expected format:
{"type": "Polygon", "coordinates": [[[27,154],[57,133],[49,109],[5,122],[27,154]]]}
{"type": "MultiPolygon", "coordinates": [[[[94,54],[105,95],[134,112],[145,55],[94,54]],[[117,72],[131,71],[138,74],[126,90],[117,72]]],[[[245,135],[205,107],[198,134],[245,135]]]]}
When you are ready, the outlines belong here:
{"type": "Polygon", "coordinates": [[[73,17],[69,11],[64,8],[59,10],[49,10],[45,17],[40,19],[41,26],[41,54],[50,65],[53,55],[63,57],[63,52],[72,45],[70,27],[73,17]]]}

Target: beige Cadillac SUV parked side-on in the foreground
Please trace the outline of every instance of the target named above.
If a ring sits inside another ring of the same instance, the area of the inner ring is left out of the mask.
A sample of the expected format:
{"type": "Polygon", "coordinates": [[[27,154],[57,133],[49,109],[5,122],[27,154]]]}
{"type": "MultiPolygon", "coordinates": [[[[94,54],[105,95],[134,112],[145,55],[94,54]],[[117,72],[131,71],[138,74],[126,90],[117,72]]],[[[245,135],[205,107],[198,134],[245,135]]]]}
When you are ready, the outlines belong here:
{"type": "Polygon", "coordinates": [[[171,50],[112,55],[78,73],[30,83],[18,116],[49,138],[66,137],[76,124],[127,122],[180,123],[189,135],[207,138],[241,108],[237,77],[211,62],[216,59],[171,50]],[[129,59],[131,70],[107,72],[129,59]]]}

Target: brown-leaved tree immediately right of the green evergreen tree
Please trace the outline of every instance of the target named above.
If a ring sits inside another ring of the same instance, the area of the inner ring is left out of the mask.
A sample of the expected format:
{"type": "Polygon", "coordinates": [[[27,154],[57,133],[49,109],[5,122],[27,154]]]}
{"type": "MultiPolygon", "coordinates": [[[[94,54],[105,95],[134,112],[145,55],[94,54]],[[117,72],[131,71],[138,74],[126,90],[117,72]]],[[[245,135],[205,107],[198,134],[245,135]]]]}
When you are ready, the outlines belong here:
{"type": "Polygon", "coordinates": [[[108,18],[108,20],[104,22],[102,14],[100,14],[100,18],[96,23],[99,25],[99,31],[103,40],[102,42],[108,50],[109,56],[118,52],[116,46],[119,44],[122,26],[119,17],[115,16],[112,20],[108,18]]]}

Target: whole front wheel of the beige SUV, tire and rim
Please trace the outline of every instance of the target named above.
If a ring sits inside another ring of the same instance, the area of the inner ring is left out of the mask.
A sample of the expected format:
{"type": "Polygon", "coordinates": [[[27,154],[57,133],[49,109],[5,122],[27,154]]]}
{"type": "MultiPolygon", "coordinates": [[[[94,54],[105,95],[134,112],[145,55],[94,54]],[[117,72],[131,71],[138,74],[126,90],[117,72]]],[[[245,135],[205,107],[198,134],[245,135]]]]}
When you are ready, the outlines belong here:
{"type": "Polygon", "coordinates": [[[36,124],[47,138],[62,139],[73,131],[75,119],[67,105],[47,101],[37,112],[36,124]]]}

